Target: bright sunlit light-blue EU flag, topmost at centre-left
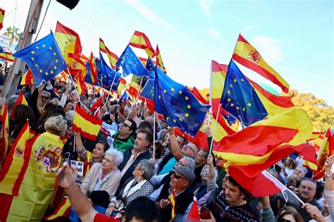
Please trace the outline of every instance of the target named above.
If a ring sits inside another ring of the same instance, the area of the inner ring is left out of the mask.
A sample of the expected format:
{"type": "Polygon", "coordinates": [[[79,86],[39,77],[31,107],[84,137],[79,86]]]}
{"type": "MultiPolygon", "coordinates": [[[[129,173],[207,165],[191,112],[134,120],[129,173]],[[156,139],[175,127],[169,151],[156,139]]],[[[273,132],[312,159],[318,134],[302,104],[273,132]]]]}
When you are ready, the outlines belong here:
{"type": "Polygon", "coordinates": [[[138,76],[149,75],[149,71],[147,71],[140,59],[136,56],[135,52],[132,51],[130,46],[126,47],[123,51],[123,54],[120,55],[120,58],[116,63],[117,70],[120,66],[123,68],[124,77],[130,74],[138,76]]]}

